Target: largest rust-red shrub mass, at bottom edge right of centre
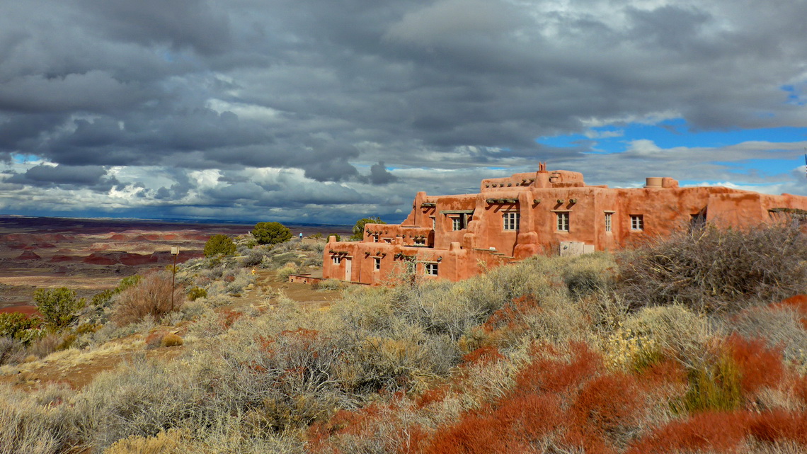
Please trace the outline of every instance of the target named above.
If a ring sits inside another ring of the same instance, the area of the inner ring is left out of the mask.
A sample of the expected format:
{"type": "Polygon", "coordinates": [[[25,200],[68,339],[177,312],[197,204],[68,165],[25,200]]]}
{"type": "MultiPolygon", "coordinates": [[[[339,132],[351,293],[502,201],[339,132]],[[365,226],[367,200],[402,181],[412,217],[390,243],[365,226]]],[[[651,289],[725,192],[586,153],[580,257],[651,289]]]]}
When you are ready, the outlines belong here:
{"type": "Polygon", "coordinates": [[[549,352],[536,351],[507,395],[438,429],[423,452],[529,452],[545,439],[589,453],[613,452],[613,436],[643,407],[636,380],[608,374],[600,355],[583,343],[571,347],[570,359],[549,352]]]}

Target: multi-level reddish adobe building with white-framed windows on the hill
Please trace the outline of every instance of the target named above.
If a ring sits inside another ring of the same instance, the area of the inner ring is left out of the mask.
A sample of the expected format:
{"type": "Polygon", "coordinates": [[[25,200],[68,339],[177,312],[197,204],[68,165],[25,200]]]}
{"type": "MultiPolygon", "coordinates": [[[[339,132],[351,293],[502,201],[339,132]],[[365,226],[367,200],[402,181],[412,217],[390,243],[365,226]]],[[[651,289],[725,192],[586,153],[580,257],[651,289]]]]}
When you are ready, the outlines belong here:
{"type": "Polygon", "coordinates": [[[361,242],[328,239],[323,276],[378,284],[404,267],[463,280],[534,254],[617,250],[705,223],[747,227],[807,214],[807,197],[727,187],[679,187],[648,178],[639,188],[587,186],[583,174],[546,170],[485,179],[479,194],[418,192],[400,225],[368,224],[361,242]]]}

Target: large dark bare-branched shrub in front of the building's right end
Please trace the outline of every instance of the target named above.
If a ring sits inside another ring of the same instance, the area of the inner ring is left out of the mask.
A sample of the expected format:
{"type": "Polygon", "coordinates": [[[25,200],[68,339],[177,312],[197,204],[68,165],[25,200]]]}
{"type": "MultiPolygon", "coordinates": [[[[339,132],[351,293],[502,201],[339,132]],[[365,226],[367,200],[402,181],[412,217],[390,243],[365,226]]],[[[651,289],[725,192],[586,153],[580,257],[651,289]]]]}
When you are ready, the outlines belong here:
{"type": "Polygon", "coordinates": [[[807,238],[792,225],[680,231],[621,254],[621,292],[632,307],[734,312],[801,292],[805,256],[807,238]]]}

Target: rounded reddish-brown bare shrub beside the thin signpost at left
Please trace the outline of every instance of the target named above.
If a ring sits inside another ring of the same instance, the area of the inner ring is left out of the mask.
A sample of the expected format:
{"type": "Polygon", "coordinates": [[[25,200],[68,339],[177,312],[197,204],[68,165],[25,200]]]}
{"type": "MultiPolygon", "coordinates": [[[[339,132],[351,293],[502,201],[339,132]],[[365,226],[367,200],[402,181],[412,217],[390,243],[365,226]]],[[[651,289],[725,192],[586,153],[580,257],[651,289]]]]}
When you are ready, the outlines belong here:
{"type": "Polygon", "coordinates": [[[181,288],[172,288],[170,275],[152,273],[116,296],[111,319],[118,326],[139,322],[146,315],[159,319],[181,308],[184,301],[185,292],[181,288]]]}

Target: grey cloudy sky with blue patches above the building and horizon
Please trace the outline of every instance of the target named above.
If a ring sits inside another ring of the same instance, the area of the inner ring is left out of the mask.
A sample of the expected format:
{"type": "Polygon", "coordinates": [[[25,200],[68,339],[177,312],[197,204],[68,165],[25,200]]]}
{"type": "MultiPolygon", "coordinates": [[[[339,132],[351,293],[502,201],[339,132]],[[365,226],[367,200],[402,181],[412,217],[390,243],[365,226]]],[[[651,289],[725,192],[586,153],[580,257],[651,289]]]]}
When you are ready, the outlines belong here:
{"type": "Polygon", "coordinates": [[[537,169],[807,195],[807,2],[0,0],[0,213],[352,224],[537,169]]]}

